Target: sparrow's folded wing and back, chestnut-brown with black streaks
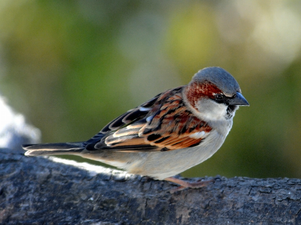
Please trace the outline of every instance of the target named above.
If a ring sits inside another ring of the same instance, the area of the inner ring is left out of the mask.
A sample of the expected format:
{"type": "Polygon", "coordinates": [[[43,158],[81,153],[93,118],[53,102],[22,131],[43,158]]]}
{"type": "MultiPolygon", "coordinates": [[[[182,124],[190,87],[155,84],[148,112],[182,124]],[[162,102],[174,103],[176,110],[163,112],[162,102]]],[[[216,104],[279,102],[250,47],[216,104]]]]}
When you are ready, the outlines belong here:
{"type": "Polygon", "coordinates": [[[182,88],[168,90],[106,125],[87,143],[89,150],[170,151],[198,145],[211,127],[182,99],[182,88]]]}

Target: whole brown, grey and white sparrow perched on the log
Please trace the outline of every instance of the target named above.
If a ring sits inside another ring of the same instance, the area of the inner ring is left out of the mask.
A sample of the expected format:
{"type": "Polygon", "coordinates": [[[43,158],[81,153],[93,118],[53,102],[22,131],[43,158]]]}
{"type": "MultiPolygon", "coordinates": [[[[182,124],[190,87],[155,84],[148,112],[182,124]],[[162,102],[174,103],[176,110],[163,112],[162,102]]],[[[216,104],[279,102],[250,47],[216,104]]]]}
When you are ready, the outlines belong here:
{"type": "Polygon", "coordinates": [[[171,181],[180,185],[174,191],[199,188],[208,181],[186,182],[173,176],[205,161],[222,146],[239,105],[249,103],[235,78],[220,67],[207,67],[189,84],[166,90],[120,115],[88,141],[22,147],[26,156],[77,155],[171,181]]]}

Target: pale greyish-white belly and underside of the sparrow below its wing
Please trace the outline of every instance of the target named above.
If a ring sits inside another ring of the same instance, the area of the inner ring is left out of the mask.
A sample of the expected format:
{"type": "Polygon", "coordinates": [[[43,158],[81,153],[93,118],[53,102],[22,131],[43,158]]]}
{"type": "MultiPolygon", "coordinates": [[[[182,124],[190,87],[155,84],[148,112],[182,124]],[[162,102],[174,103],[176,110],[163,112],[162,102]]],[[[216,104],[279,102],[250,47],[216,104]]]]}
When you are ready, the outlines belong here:
{"type": "Polygon", "coordinates": [[[203,142],[191,148],[164,152],[83,151],[80,156],[122,168],[129,173],[162,180],[211,157],[223,144],[225,137],[212,131],[203,142]]]}

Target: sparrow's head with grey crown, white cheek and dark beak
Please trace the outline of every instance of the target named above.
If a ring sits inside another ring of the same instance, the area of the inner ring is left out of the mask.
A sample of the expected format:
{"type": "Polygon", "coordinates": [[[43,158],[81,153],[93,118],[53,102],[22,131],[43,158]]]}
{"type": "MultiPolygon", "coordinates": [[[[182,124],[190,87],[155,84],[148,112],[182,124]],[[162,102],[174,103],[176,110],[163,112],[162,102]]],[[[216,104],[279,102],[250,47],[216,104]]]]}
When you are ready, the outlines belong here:
{"type": "Polygon", "coordinates": [[[198,71],[183,94],[197,115],[207,121],[232,119],[239,105],[249,105],[234,77],[220,67],[198,71]]]}

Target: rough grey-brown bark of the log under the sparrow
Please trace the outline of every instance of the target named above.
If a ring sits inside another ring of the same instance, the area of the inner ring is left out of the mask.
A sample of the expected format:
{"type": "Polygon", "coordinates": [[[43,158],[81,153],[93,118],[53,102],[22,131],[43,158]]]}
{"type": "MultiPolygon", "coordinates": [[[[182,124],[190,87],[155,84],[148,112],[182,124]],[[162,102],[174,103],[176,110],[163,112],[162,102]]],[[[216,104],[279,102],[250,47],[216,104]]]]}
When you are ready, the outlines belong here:
{"type": "Polygon", "coordinates": [[[0,149],[0,224],[301,224],[300,179],[217,176],[200,189],[174,187],[0,149]]]}

